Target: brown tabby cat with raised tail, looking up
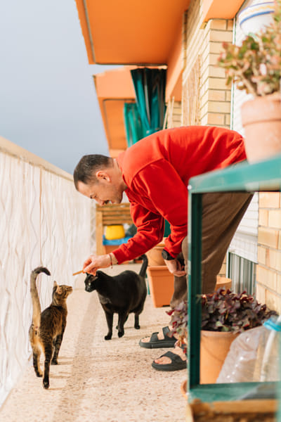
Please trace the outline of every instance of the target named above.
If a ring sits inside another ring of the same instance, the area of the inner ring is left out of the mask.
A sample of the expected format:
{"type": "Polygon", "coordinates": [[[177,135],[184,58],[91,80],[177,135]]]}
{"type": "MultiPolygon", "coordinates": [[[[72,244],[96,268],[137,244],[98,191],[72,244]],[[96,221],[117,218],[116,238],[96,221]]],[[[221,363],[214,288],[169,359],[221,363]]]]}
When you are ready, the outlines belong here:
{"type": "Polygon", "coordinates": [[[52,302],[49,307],[41,313],[38,290],[36,287],[36,279],[38,274],[44,272],[50,276],[50,271],[45,267],[37,267],[30,276],[30,293],[32,298],[32,324],[30,326],[30,344],[33,351],[33,367],[37,376],[43,376],[40,369],[41,351],[45,355],[44,363],[44,388],[49,388],[49,371],[50,363],[58,364],[58,352],[63,340],[63,333],[66,326],[67,317],[67,296],[72,293],[71,286],[58,286],[53,282],[52,302]]]}

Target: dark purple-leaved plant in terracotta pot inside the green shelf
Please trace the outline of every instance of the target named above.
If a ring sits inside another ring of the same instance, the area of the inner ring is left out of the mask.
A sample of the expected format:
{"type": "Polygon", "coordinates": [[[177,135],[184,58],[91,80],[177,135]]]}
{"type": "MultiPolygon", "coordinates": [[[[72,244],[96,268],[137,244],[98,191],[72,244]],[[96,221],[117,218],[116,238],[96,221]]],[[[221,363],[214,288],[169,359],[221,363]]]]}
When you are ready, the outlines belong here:
{"type": "MultiPolygon", "coordinates": [[[[233,340],[242,333],[276,314],[261,305],[252,295],[233,293],[224,288],[201,295],[202,331],[200,342],[200,383],[215,383],[233,340]]],[[[182,302],[167,312],[172,330],[178,334],[179,345],[187,345],[188,305],[182,302]]],[[[186,352],[186,347],[185,347],[186,352]]]]}

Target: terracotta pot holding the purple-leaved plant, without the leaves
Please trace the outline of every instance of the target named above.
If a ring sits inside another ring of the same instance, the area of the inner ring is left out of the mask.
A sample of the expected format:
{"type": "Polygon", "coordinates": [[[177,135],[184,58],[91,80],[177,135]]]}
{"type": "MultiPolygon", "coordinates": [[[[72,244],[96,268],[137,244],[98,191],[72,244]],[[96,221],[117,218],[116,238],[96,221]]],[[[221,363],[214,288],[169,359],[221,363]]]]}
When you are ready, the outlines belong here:
{"type": "Polygon", "coordinates": [[[230,345],[237,335],[228,331],[201,331],[200,384],[216,383],[230,345]]]}

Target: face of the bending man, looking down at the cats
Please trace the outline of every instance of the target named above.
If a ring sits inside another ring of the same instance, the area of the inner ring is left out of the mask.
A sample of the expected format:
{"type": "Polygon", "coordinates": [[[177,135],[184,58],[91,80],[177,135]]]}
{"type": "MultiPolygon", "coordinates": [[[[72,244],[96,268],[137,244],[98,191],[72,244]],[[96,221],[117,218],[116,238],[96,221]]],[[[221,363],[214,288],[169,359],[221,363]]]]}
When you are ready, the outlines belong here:
{"type": "Polygon", "coordinates": [[[93,184],[84,184],[82,181],[79,181],[77,187],[82,195],[96,200],[99,205],[105,205],[107,203],[119,204],[122,202],[122,188],[116,186],[112,181],[101,179],[93,184]]]}

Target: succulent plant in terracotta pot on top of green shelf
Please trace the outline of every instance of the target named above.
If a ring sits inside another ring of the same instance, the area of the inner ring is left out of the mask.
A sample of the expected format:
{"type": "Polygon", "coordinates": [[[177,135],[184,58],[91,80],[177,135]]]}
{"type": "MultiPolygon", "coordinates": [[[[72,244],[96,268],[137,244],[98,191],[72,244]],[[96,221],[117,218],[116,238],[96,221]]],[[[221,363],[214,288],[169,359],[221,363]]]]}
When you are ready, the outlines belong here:
{"type": "Polygon", "coordinates": [[[223,43],[218,66],[226,69],[227,85],[234,82],[253,97],[241,108],[249,162],[281,153],[281,0],[275,0],[270,25],[240,46],[223,43]]]}

